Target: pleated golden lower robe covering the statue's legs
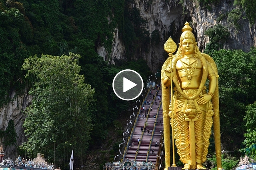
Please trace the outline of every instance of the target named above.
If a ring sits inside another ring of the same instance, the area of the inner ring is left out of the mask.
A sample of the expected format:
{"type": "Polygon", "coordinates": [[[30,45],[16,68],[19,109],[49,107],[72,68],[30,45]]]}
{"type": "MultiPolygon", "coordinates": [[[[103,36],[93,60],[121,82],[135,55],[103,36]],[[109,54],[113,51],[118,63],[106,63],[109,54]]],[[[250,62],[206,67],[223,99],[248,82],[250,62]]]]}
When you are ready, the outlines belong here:
{"type": "MultiPolygon", "coordinates": [[[[205,87],[204,87],[205,89],[205,87]]],[[[189,97],[196,94],[197,90],[188,89],[183,90],[185,94],[189,97]]],[[[206,94],[206,91],[203,90],[200,95],[206,94]]],[[[190,156],[190,136],[189,136],[189,121],[194,121],[194,132],[195,132],[195,146],[196,146],[196,163],[202,163],[206,160],[206,155],[208,154],[209,147],[209,138],[211,135],[211,127],[212,127],[212,103],[208,102],[204,105],[198,105],[197,100],[200,97],[195,98],[194,105],[196,106],[197,114],[194,119],[189,119],[185,114],[186,105],[188,104],[188,100],[185,99],[181,94],[177,91],[174,92],[174,96],[172,98],[174,105],[174,120],[172,128],[174,128],[174,139],[175,145],[178,149],[178,154],[180,156],[180,160],[184,164],[191,165],[191,156],[190,156]]],[[[169,116],[172,117],[171,105],[169,108],[169,116]]]]}

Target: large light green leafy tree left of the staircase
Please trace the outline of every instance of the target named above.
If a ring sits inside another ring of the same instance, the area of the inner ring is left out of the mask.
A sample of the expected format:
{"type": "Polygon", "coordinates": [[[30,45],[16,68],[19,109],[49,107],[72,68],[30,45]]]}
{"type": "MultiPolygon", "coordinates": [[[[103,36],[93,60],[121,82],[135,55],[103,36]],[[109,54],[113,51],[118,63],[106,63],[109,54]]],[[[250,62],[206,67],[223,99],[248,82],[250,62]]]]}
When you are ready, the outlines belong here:
{"type": "MultiPolygon", "coordinates": [[[[32,104],[23,126],[28,137],[22,145],[30,156],[42,153],[56,165],[67,165],[72,149],[81,156],[88,149],[95,100],[77,65],[80,55],[42,55],[24,61],[26,77],[34,76],[32,104]],[[65,162],[66,161],[66,162],[65,162]]],[[[62,167],[66,169],[67,167],[62,167]]]]}

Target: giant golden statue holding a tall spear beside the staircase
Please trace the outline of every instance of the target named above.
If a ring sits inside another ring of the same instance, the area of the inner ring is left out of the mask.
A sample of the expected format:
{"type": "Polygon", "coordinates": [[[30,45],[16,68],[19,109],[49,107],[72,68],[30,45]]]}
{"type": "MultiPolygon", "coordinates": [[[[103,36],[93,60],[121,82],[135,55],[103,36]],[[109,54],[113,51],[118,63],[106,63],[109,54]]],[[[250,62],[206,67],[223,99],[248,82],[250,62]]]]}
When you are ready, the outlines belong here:
{"type": "MultiPolygon", "coordinates": [[[[178,51],[172,55],[176,48],[174,41],[169,38],[164,45],[169,58],[164,62],[161,71],[165,170],[170,167],[170,124],[173,141],[175,139],[180,160],[184,163],[183,169],[206,169],[202,163],[208,154],[212,123],[214,123],[217,167],[221,170],[216,64],[209,55],[200,53],[188,22],[182,28],[178,51]],[[209,80],[208,89],[205,86],[207,79],[209,80]],[[175,85],[173,89],[172,82],[175,85]],[[174,94],[172,94],[173,90],[174,94]]],[[[175,162],[172,166],[176,166],[175,162]]]]}

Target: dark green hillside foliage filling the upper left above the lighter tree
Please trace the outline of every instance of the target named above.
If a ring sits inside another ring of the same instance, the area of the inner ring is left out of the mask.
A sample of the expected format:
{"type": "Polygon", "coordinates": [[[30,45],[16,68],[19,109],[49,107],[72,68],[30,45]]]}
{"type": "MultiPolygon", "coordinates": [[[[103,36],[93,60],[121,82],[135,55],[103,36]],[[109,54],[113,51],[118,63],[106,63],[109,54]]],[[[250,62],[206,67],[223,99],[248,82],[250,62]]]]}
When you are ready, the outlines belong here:
{"type": "Polygon", "coordinates": [[[71,51],[84,58],[102,45],[110,54],[116,27],[130,59],[147,49],[147,23],[130,1],[0,0],[0,105],[8,102],[10,90],[24,88],[20,68],[28,56],[71,51]]]}

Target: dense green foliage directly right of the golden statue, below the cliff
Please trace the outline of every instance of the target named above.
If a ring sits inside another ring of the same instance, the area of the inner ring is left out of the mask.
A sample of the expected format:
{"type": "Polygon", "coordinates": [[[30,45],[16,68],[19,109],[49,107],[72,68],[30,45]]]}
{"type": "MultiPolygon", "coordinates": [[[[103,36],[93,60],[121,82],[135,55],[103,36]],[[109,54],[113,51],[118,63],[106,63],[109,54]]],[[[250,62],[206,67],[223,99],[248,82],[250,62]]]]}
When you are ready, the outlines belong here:
{"type": "Polygon", "coordinates": [[[217,64],[220,76],[222,143],[226,149],[235,150],[244,139],[246,122],[243,119],[246,106],[256,101],[256,49],[249,53],[241,50],[220,50],[212,52],[211,56],[217,64]]]}

